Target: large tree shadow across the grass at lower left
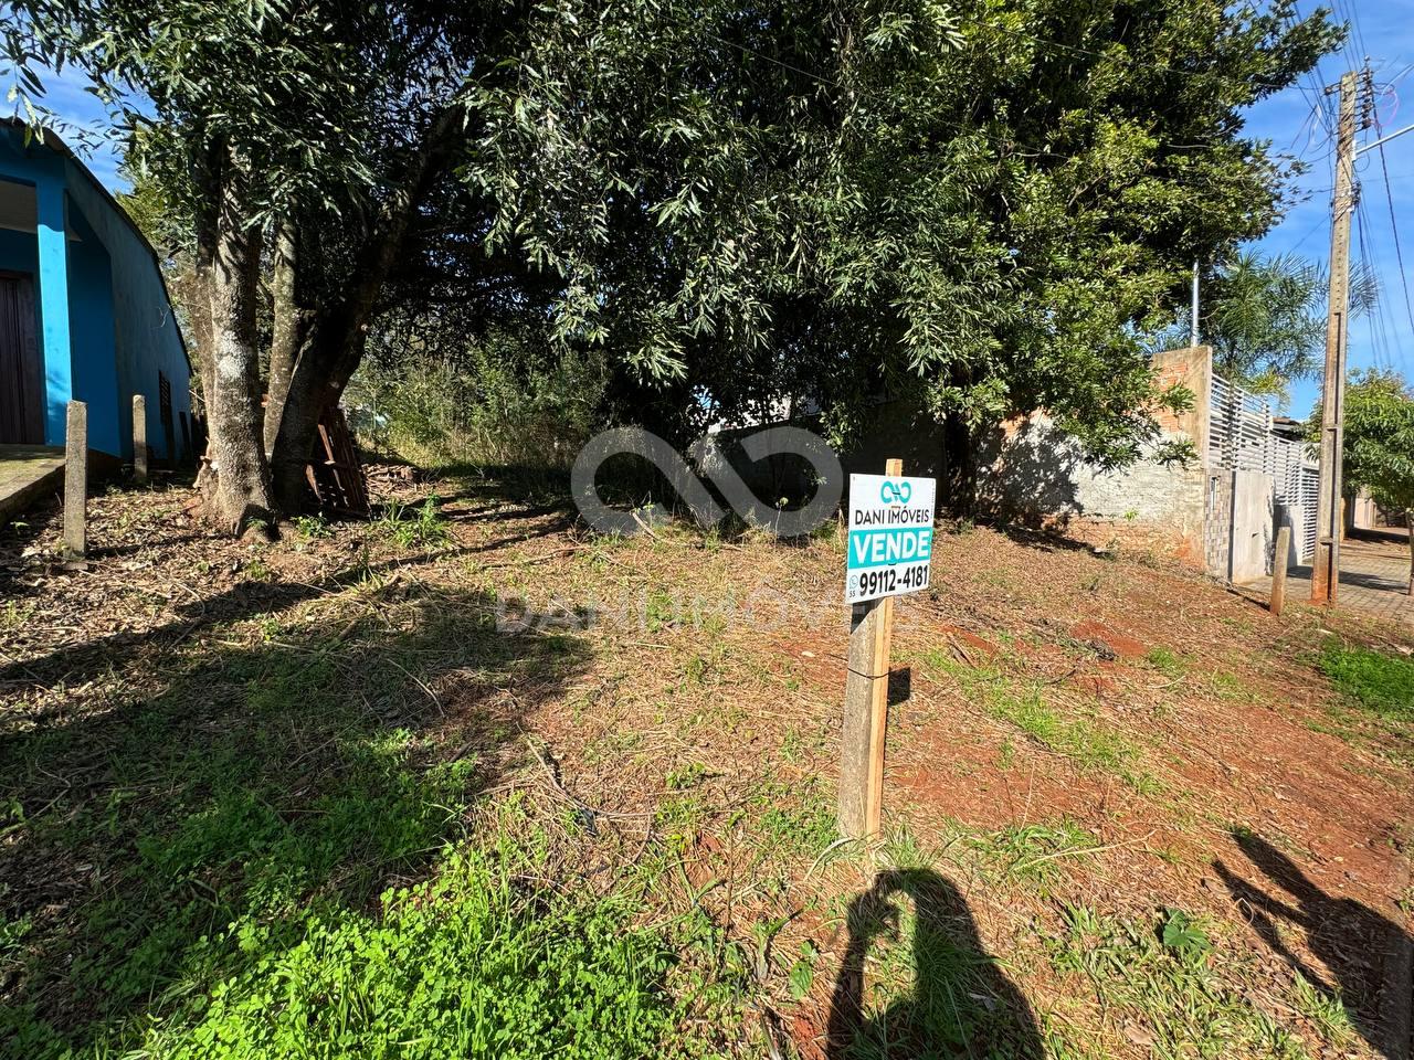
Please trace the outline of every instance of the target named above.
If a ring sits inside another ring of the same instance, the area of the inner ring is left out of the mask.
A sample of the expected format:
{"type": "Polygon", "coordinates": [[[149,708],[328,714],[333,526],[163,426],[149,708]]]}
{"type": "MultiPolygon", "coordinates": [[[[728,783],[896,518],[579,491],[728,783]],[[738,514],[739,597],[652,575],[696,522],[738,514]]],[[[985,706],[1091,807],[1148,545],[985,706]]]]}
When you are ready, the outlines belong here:
{"type": "Polygon", "coordinates": [[[481,594],[351,603],[334,628],[168,644],[132,691],[113,680],[132,654],[110,650],[99,701],[58,677],[25,693],[57,709],[0,717],[0,1053],[85,1052],[136,1016],[199,1012],[297,946],[311,910],[369,909],[427,875],[526,715],[588,660],[577,639],[498,632],[481,594]]]}

